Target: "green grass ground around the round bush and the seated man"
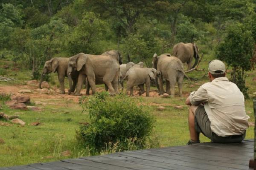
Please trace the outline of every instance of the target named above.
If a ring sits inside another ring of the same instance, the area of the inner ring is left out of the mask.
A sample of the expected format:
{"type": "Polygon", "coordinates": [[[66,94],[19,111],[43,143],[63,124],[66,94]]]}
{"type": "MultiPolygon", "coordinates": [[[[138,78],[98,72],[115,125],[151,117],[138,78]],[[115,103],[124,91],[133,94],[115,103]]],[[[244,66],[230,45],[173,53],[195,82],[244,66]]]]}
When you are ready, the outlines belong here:
{"type": "MultiPolygon", "coordinates": [[[[151,114],[156,119],[152,139],[157,139],[159,144],[152,144],[151,147],[167,147],[184,145],[189,140],[189,130],[187,123],[188,107],[184,104],[186,95],[195,91],[204,82],[208,81],[207,67],[211,58],[204,57],[200,64],[200,69],[205,71],[193,71],[187,75],[194,81],[184,80],[184,97],[175,99],[163,99],[159,97],[142,97],[145,105],[148,105],[151,114]],[[196,80],[196,81],[195,81],[196,80]],[[163,105],[165,111],[157,111],[157,106],[163,105]],[[174,108],[173,105],[181,105],[182,109],[174,108]]],[[[10,68],[12,69],[12,67],[10,68]]],[[[0,70],[2,71],[2,70],[0,70]]],[[[1,72],[0,72],[1,74],[1,72]]],[[[8,72],[6,72],[8,74],[8,72]]],[[[247,114],[250,116],[249,122],[254,122],[253,116],[253,93],[256,92],[256,71],[247,73],[247,86],[251,99],[245,101],[247,114]]],[[[24,80],[31,79],[28,71],[18,71],[12,73],[10,77],[19,79],[16,82],[0,82],[1,86],[22,85],[24,80]]],[[[227,77],[230,77],[228,74],[227,77]]],[[[52,74],[52,79],[56,79],[56,74],[52,74]]],[[[56,79],[53,84],[58,85],[56,79]]],[[[103,86],[100,86],[103,87],[103,86]]],[[[176,88],[177,93],[177,88],[176,88]]],[[[38,101],[38,99],[36,99],[38,101]]],[[[35,99],[31,99],[32,105],[35,105],[35,99]]],[[[89,156],[88,150],[79,147],[76,143],[76,130],[79,128],[79,122],[89,122],[89,116],[86,111],[82,112],[79,103],[69,99],[41,99],[48,103],[43,106],[43,111],[20,111],[11,110],[3,103],[0,112],[7,115],[17,114],[24,122],[25,126],[12,124],[11,126],[0,126],[0,167],[8,167],[22,164],[31,164],[36,162],[55,161],[67,158],[77,158],[79,156],[89,156]],[[17,113],[19,112],[19,113],[17,113]],[[44,125],[32,126],[32,122],[41,122],[44,125]],[[61,153],[70,150],[70,156],[62,156],[61,153]]],[[[5,122],[1,120],[1,122],[5,122]]],[[[246,139],[253,139],[253,128],[247,130],[246,139]]],[[[201,142],[209,142],[209,139],[201,135],[201,142]]],[[[157,142],[156,142],[157,143],[157,142]]]]}

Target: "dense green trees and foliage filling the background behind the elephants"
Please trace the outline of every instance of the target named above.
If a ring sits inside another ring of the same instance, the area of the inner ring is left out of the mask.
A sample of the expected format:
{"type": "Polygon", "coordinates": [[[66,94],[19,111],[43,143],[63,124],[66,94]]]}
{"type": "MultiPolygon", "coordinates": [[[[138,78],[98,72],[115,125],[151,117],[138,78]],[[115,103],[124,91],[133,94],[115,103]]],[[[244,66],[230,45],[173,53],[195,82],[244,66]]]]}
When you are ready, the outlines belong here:
{"type": "MultiPolygon", "coordinates": [[[[246,53],[241,50],[236,54],[244,55],[236,57],[236,63],[248,66],[254,47],[246,42],[229,42],[228,36],[236,34],[230,29],[243,25],[243,34],[251,32],[247,36],[251,43],[256,42],[255,0],[1,2],[0,55],[32,72],[52,57],[70,57],[79,52],[101,54],[111,49],[121,51],[124,62],[142,60],[151,67],[154,53],[171,53],[173,45],[181,41],[196,42],[200,53],[214,54],[212,51],[217,49],[217,54],[223,52],[225,56],[230,55],[223,47],[225,43],[236,49],[247,46],[246,53]]],[[[241,74],[244,77],[243,71],[241,74]]]]}

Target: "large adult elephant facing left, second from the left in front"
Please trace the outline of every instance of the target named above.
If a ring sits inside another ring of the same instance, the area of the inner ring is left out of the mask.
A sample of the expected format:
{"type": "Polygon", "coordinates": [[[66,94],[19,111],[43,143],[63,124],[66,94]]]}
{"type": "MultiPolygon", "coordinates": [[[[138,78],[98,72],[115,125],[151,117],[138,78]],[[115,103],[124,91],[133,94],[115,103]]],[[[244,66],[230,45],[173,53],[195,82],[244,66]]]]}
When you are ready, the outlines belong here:
{"type": "Polygon", "coordinates": [[[120,63],[122,63],[122,60],[120,59],[117,51],[110,51],[108,54],[103,53],[101,55],[79,53],[73,57],[70,57],[67,68],[67,74],[70,82],[70,73],[73,70],[79,71],[75,95],[81,95],[81,86],[85,78],[87,78],[89,82],[88,84],[92,89],[92,94],[95,94],[96,92],[96,81],[104,82],[108,86],[109,94],[111,96],[118,94],[120,63]],[[114,53],[116,55],[109,55],[114,53]]]}

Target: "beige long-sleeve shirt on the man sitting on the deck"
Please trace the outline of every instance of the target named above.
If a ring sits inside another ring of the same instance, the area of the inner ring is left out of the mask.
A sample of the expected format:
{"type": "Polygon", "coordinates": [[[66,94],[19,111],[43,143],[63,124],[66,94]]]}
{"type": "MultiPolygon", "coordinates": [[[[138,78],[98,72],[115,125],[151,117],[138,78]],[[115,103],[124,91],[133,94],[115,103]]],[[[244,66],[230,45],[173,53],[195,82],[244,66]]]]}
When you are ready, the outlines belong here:
{"type": "Polygon", "coordinates": [[[218,136],[243,134],[249,127],[245,113],[244,95],[227,77],[205,83],[190,95],[192,105],[204,103],[212,132],[218,136]]]}

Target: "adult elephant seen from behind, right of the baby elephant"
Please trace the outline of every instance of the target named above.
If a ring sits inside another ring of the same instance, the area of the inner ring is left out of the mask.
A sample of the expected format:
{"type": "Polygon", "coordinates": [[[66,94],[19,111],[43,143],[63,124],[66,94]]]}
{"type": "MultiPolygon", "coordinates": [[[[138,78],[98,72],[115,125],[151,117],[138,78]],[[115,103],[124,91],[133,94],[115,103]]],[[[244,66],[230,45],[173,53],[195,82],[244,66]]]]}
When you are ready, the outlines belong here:
{"type": "Polygon", "coordinates": [[[177,57],[171,56],[171,54],[162,54],[153,56],[153,68],[160,71],[161,76],[158,79],[159,94],[164,93],[163,79],[166,79],[166,93],[175,96],[175,84],[178,82],[179,96],[182,96],[182,83],[184,77],[183,64],[177,57]]]}

